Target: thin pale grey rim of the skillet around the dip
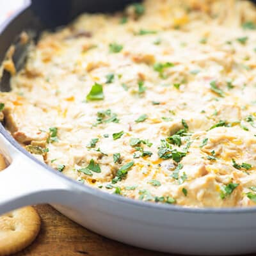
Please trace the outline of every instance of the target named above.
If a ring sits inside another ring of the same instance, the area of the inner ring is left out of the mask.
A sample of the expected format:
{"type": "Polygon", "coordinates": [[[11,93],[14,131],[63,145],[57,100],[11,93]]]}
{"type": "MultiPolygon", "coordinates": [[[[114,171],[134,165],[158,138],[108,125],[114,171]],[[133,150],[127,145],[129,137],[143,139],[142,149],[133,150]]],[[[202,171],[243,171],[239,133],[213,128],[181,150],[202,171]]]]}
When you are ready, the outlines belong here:
{"type": "MultiPolygon", "coordinates": [[[[28,10],[29,3],[31,1],[28,1],[26,6],[22,6],[22,8],[19,8],[17,12],[15,12],[14,15],[12,15],[9,19],[6,19],[6,21],[0,26],[0,35],[1,33],[8,28],[9,24],[17,18],[22,12],[25,10],[28,10]]],[[[1,92],[1,91],[0,91],[1,92]]],[[[13,147],[15,147],[19,152],[27,156],[29,159],[34,161],[36,164],[39,164],[40,166],[44,167],[47,172],[51,172],[52,175],[55,175],[56,177],[65,180],[65,182],[69,183],[70,185],[75,186],[79,188],[81,191],[84,193],[90,193],[95,196],[99,196],[103,199],[106,200],[111,200],[111,201],[117,201],[122,204],[129,204],[134,207],[144,207],[148,209],[154,209],[154,210],[159,210],[159,211],[174,211],[174,212],[182,212],[182,213],[193,213],[193,214],[249,214],[249,213],[255,213],[256,212],[256,206],[253,207],[223,207],[223,208],[218,208],[218,207],[184,207],[180,205],[172,205],[172,204],[157,204],[156,202],[145,202],[141,200],[135,200],[131,199],[126,196],[120,196],[120,195],[115,195],[111,193],[107,193],[105,191],[101,191],[100,189],[93,188],[91,186],[88,186],[87,184],[81,184],[81,182],[77,182],[76,180],[73,180],[66,175],[57,172],[51,166],[42,163],[36,157],[33,157],[31,154],[29,154],[28,151],[26,151],[24,148],[22,148],[19,143],[10,135],[10,133],[5,129],[3,124],[0,123],[0,134],[8,140],[13,147]]],[[[12,158],[12,156],[11,156],[12,158]]]]}

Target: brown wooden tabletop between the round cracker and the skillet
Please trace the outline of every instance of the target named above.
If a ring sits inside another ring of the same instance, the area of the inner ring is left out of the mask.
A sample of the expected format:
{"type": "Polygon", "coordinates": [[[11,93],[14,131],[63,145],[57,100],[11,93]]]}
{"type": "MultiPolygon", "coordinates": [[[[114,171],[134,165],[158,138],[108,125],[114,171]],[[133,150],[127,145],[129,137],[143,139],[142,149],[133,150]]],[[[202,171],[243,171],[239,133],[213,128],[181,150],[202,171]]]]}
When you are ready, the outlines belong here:
{"type": "Polygon", "coordinates": [[[36,205],[40,233],[31,246],[15,256],[164,256],[99,236],[69,220],[50,205],[36,205]]]}

